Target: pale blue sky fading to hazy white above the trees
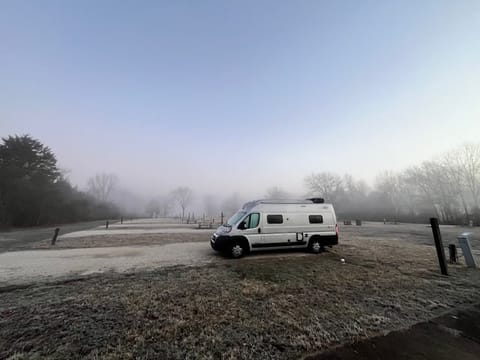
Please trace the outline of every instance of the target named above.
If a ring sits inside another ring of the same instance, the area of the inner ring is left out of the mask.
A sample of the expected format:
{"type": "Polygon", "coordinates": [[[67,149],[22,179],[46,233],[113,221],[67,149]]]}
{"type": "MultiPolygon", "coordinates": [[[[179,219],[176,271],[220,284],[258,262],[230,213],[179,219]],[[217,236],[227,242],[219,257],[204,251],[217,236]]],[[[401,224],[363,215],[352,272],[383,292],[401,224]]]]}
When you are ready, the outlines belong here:
{"type": "Polygon", "coordinates": [[[480,2],[0,0],[0,136],[158,195],[373,182],[480,141],[480,2]]]}

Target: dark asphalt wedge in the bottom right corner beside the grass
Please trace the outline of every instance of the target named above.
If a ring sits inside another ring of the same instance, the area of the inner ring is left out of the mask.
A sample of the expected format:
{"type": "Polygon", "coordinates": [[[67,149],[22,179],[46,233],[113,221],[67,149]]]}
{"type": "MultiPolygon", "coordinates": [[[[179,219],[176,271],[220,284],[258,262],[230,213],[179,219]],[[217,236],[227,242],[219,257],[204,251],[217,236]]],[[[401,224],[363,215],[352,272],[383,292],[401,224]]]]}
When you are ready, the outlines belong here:
{"type": "Polygon", "coordinates": [[[480,305],[391,332],[305,360],[478,360],[480,359],[480,305]]]}

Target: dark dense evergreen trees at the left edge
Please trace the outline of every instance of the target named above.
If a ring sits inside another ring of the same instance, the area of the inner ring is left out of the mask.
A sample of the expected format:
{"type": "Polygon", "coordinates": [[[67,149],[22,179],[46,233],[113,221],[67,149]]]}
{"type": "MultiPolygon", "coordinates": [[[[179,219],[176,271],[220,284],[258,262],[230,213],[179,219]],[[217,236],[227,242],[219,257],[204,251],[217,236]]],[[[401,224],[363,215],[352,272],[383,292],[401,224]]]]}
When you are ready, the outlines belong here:
{"type": "Polygon", "coordinates": [[[0,226],[36,226],[119,216],[104,199],[73,187],[55,154],[29,135],[0,144],[0,226]]]}

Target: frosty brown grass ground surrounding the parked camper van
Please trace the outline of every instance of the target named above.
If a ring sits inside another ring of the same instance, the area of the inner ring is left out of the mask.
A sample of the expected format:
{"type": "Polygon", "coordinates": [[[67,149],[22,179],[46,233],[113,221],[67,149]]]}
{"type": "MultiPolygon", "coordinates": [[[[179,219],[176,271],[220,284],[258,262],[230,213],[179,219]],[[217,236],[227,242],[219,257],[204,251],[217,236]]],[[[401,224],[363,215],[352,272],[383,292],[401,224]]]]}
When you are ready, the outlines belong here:
{"type": "MultiPolygon", "coordinates": [[[[213,253],[209,231],[131,225],[123,234],[72,234],[58,242],[70,249],[56,251],[115,254],[134,244],[162,254],[194,244],[203,260],[187,257],[171,267],[155,265],[152,255],[148,271],[5,282],[0,358],[294,359],[480,302],[480,271],[459,264],[439,275],[425,225],[342,226],[340,245],[320,255],[267,252],[240,260],[213,253]],[[125,232],[139,228],[150,232],[125,232]]],[[[445,244],[465,230],[443,227],[445,244]]],[[[28,253],[51,251],[45,241],[30,247],[43,250],[28,253]]]]}

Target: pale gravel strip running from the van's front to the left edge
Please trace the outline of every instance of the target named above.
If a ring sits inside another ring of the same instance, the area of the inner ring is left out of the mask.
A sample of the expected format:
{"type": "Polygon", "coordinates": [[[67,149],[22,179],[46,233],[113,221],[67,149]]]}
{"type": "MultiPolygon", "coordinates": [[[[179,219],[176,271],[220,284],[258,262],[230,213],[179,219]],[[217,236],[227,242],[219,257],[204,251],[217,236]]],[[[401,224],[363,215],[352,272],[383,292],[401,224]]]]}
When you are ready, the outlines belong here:
{"type": "Polygon", "coordinates": [[[198,265],[219,257],[205,242],[7,252],[0,254],[0,285],[107,271],[198,265]]]}

